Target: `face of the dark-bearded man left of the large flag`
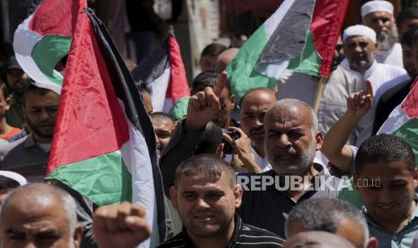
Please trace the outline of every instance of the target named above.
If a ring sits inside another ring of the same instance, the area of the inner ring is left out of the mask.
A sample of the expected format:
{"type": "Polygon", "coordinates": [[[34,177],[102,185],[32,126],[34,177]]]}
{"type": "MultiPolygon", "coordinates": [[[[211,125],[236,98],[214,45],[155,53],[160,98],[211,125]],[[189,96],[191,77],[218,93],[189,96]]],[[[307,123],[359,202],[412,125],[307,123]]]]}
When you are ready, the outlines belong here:
{"type": "Polygon", "coordinates": [[[25,120],[38,143],[50,143],[54,135],[59,95],[30,92],[24,102],[25,120]]]}

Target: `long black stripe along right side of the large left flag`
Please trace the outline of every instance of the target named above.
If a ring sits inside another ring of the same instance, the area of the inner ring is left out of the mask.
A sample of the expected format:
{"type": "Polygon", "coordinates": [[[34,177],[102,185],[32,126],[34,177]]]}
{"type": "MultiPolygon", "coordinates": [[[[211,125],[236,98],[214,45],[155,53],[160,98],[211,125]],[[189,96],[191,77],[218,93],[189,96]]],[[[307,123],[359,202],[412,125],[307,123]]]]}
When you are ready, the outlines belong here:
{"type": "Polygon", "coordinates": [[[125,111],[129,120],[142,133],[147,141],[149,156],[151,158],[154,185],[156,192],[156,214],[157,226],[160,237],[160,242],[163,242],[167,235],[167,226],[165,225],[165,199],[163,191],[163,181],[160,169],[157,165],[156,158],[156,136],[152,122],[148,117],[147,111],[142,99],[138,93],[138,88],[135,84],[134,78],[129,73],[128,67],[125,65],[118,49],[116,49],[111,36],[106,27],[99,20],[93,10],[85,9],[85,13],[89,16],[95,36],[99,42],[102,50],[103,58],[105,59],[109,75],[111,75],[111,82],[115,89],[116,96],[125,104],[125,111]]]}

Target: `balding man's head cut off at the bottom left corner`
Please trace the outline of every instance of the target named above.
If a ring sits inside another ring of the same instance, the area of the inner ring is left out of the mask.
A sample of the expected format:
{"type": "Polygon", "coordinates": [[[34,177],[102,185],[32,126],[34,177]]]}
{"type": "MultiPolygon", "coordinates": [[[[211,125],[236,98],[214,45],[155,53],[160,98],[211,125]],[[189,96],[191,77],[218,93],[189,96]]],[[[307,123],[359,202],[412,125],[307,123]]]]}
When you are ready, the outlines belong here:
{"type": "Polygon", "coordinates": [[[46,183],[22,186],[4,199],[0,212],[2,247],[79,247],[76,202],[46,183]]]}

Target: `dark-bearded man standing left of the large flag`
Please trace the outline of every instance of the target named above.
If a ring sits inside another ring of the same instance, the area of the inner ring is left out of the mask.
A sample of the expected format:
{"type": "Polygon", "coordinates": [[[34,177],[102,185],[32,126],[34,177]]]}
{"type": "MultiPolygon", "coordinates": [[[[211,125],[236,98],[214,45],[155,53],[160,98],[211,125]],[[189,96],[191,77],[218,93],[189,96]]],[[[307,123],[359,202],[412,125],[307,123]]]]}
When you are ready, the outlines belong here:
{"type": "Polygon", "coordinates": [[[31,135],[0,147],[1,170],[20,173],[29,182],[41,182],[58,112],[59,95],[30,84],[23,97],[26,125],[31,135]]]}

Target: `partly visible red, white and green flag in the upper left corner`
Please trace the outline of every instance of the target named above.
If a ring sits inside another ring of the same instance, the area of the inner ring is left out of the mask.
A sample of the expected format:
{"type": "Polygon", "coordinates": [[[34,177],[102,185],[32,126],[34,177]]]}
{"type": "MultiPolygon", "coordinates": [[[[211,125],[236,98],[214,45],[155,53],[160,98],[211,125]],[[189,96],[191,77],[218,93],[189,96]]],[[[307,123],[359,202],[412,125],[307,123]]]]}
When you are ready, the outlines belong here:
{"type": "Polygon", "coordinates": [[[14,31],[16,60],[38,86],[60,93],[63,75],[54,68],[71,46],[80,7],[75,1],[43,0],[14,31]]]}

